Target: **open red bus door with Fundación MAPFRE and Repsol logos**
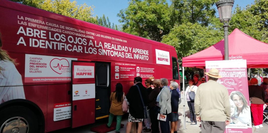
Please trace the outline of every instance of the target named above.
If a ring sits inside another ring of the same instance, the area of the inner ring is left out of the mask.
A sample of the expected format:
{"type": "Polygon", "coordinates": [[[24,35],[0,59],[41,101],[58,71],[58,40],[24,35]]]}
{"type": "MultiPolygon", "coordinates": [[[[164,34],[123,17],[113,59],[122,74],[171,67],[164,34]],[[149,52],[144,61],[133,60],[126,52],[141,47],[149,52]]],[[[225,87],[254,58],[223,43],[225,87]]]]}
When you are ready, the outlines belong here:
{"type": "Polygon", "coordinates": [[[72,61],[72,128],[95,122],[95,63],[72,61]]]}

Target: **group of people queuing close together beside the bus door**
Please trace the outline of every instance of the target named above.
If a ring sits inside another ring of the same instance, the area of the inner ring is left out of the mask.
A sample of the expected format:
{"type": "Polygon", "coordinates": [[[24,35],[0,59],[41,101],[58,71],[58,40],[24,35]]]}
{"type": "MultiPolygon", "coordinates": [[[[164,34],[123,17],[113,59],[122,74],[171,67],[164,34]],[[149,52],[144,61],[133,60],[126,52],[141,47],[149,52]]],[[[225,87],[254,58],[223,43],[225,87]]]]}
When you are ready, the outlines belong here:
{"type": "MultiPolygon", "coordinates": [[[[113,117],[117,117],[116,133],[120,133],[120,124],[122,115],[122,103],[124,96],[129,103],[128,123],[126,125],[126,132],[130,133],[133,123],[137,123],[137,132],[159,133],[159,124],[161,132],[177,133],[178,124],[178,102],[180,101],[180,88],[175,80],[170,81],[168,86],[168,79],[146,79],[144,85],[141,77],[134,78],[134,84],[130,87],[128,94],[123,93],[121,83],[116,84],[116,91],[111,93],[110,101],[110,115],[107,123],[107,128],[110,128],[113,117]],[[152,87],[154,89],[152,89],[152,87]],[[144,107],[149,109],[149,117],[146,120],[146,127],[142,129],[142,122],[144,121],[144,107]],[[165,118],[165,121],[159,120],[165,118]],[[170,124],[171,128],[170,128],[170,124]]],[[[134,124],[135,125],[135,124],[134,124]]]]}

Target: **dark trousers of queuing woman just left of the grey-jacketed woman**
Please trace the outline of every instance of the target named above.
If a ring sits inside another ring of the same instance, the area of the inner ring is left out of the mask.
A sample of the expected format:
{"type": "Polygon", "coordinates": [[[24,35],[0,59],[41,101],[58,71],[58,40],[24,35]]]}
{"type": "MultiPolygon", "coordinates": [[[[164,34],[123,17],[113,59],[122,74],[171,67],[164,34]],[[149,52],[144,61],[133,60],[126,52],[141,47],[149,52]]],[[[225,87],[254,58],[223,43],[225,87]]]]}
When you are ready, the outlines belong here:
{"type": "Polygon", "coordinates": [[[149,111],[150,111],[152,133],[159,133],[159,120],[157,119],[158,115],[157,107],[151,107],[149,111]]]}

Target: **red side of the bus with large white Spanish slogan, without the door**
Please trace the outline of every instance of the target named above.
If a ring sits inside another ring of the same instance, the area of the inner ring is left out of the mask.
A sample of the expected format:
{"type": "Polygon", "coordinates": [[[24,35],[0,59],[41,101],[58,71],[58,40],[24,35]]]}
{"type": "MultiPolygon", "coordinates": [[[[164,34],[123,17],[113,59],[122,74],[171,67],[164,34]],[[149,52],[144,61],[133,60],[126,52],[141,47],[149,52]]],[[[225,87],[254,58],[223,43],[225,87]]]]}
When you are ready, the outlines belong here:
{"type": "MultiPolygon", "coordinates": [[[[42,110],[45,132],[72,125],[72,119],[59,120],[55,114],[57,108],[69,111],[72,104],[72,60],[107,67],[107,83],[96,86],[106,89],[108,101],[118,82],[128,93],[136,76],[143,80],[151,76],[174,79],[172,70],[176,66],[173,68],[172,58],[177,60],[177,54],[173,46],[7,0],[0,0],[0,11],[1,49],[16,59],[23,83],[19,86],[23,87],[25,99],[42,110]]],[[[6,86],[18,84],[0,84],[0,90],[6,86]]],[[[103,107],[106,110],[97,110],[103,104],[97,102],[96,98],[96,111],[109,113],[109,102],[103,107]]]]}

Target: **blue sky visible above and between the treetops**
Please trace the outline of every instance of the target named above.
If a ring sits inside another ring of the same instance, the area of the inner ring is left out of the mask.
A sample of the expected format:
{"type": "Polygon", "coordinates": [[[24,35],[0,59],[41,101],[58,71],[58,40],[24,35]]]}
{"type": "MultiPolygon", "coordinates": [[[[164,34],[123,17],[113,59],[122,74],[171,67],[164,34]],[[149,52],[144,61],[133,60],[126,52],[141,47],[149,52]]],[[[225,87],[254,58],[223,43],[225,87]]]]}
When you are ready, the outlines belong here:
{"type": "MultiPolygon", "coordinates": [[[[103,14],[106,17],[109,17],[110,22],[116,25],[120,25],[122,23],[118,22],[117,14],[121,9],[126,9],[128,7],[128,0],[76,0],[78,5],[86,3],[88,6],[95,6],[94,8],[94,16],[102,16],[103,14]]],[[[170,4],[171,2],[167,0],[170,4]]],[[[235,4],[233,9],[235,9],[236,5],[240,7],[246,7],[249,4],[253,4],[254,0],[235,0],[235,4]]],[[[216,8],[216,6],[214,6],[216,8]]]]}

